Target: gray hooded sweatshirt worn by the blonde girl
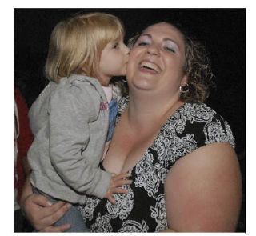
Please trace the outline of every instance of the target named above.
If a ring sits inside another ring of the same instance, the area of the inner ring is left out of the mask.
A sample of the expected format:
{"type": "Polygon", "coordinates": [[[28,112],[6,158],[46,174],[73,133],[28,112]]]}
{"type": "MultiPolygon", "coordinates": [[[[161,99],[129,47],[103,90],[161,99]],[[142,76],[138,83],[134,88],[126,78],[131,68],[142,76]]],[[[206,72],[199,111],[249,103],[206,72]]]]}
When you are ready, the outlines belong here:
{"type": "Polygon", "coordinates": [[[30,182],[51,197],[84,204],[104,198],[111,174],[98,168],[109,126],[106,94],[95,78],[50,82],[30,108],[30,182]]]}

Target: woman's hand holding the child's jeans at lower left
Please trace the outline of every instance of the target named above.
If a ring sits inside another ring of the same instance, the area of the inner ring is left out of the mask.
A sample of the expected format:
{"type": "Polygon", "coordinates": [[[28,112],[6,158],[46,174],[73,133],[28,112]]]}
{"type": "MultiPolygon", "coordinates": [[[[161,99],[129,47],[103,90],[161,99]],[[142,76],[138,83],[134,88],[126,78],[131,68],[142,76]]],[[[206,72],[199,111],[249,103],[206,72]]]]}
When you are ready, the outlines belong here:
{"type": "Polygon", "coordinates": [[[53,204],[46,197],[39,194],[30,194],[21,202],[22,211],[34,229],[41,232],[64,232],[70,224],[52,226],[70,209],[70,203],[56,202],[53,204]]]}

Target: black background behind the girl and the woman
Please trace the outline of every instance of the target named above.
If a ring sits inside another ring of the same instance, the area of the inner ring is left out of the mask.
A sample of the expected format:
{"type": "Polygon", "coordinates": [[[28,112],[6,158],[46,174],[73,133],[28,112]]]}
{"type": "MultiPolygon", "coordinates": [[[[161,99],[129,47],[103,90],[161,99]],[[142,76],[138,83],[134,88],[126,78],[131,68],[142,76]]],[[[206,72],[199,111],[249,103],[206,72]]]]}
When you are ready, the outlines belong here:
{"type": "Polygon", "coordinates": [[[28,106],[47,84],[43,76],[50,33],[70,14],[114,14],[126,26],[126,38],[152,22],[180,22],[210,54],[216,90],[206,103],[230,123],[243,178],[243,207],[238,231],[245,231],[246,163],[246,9],[14,9],[14,85],[28,106]]]}

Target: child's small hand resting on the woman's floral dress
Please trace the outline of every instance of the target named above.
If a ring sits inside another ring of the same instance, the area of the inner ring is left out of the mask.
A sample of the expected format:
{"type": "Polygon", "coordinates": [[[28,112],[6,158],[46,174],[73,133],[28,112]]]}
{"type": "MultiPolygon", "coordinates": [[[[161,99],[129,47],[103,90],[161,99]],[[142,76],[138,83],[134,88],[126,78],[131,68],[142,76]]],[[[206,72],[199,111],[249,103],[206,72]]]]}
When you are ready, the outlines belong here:
{"type": "Polygon", "coordinates": [[[113,194],[128,194],[128,190],[119,188],[119,186],[131,184],[132,180],[124,179],[130,177],[130,174],[114,174],[112,173],[109,189],[106,192],[105,198],[107,198],[112,204],[116,201],[113,198],[113,194]]]}

